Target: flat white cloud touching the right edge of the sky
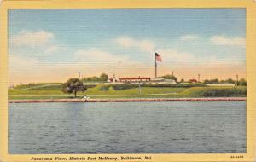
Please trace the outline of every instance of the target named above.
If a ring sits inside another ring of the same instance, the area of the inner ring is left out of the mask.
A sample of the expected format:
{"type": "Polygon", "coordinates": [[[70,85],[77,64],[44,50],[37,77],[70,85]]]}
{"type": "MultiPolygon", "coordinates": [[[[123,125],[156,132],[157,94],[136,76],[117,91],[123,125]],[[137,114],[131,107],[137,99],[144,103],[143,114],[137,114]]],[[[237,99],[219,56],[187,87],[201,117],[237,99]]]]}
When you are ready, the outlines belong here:
{"type": "Polygon", "coordinates": [[[246,39],[241,37],[228,38],[224,36],[213,36],[212,38],[210,38],[210,41],[218,45],[229,45],[239,47],[245,47],[246,45],[246,39]]]}

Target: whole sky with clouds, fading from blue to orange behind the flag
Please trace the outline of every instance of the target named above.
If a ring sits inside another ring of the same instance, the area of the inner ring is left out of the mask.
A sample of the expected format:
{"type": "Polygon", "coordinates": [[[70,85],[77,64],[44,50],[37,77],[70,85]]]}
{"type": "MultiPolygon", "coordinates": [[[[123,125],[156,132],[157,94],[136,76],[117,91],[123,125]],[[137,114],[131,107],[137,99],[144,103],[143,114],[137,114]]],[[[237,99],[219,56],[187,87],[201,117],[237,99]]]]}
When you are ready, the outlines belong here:
{"type": "Polygon", "coordinates": [[[245,17],[245,9],[10,9],[10,80],[153,77],[155,51],[160,74],[193,78],[204,67],[205,78],[245,77],[245,17]]]}

